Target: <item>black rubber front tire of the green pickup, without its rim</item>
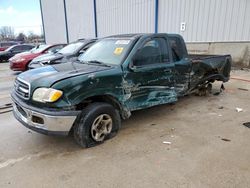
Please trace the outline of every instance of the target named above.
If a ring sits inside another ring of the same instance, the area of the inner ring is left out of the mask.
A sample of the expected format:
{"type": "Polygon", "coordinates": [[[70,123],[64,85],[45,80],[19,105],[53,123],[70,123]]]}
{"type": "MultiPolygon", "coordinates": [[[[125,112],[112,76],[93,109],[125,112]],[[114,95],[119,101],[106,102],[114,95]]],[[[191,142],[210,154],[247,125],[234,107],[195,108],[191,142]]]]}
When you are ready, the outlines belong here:
{"type": "Polygon", "coordinates": [[[73,131],[74,139],[81,147],[93,147],[103,143],[105,140],[112,138],[116,135],[121,127],[121,118],[118,110],[108,103],[96,102],[87,106],[77,117],[73,131]],[[102,114],[107,114],[112,119],[112,130],[108,135],[105,135],[104,140],[96,141],[91,132],[91,128],[102,114]]]}

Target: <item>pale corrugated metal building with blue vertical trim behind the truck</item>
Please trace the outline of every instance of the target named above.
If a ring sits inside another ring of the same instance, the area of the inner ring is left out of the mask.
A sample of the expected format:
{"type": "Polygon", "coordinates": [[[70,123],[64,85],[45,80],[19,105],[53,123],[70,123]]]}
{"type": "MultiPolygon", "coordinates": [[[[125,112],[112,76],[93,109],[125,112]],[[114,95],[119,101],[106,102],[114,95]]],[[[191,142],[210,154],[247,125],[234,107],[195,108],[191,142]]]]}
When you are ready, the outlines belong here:
{"type": "Polygon", "coordinates": [[[249,0],[40,0],[47,43],[122,33],[179,33],[191,53],[250,65],[249,0]]]}

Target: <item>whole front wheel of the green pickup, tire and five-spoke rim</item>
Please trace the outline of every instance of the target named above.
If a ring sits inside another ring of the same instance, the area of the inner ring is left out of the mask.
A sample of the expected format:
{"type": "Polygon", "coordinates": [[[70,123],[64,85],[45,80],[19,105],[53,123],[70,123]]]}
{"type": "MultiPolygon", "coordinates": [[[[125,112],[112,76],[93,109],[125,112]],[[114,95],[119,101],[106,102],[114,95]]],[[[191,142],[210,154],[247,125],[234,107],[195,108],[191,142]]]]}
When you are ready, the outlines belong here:
{"type": "Polygon", "coordinates": [[[82,147],[103,143],[115,136],[121,126],[119,112],[107,103],[92,103],[76,119],[74,139],[82,147]]]}

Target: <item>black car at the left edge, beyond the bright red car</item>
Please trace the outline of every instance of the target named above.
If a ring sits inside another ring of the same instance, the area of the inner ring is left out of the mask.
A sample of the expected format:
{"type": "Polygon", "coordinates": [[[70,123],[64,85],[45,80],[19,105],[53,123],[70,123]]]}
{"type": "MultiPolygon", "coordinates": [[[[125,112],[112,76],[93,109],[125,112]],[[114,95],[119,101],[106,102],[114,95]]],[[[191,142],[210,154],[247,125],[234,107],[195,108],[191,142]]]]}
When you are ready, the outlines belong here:
{"type": "Polygon", "coordinates": [[[34,45],[30,45],[30,44],[18,44],[18,45],[11,46],[5,51],[0,52],[0,62],[8,61],[14,55],[21,53],[21,52],[29,51],[32,48],[34,48],[34,45]]]}

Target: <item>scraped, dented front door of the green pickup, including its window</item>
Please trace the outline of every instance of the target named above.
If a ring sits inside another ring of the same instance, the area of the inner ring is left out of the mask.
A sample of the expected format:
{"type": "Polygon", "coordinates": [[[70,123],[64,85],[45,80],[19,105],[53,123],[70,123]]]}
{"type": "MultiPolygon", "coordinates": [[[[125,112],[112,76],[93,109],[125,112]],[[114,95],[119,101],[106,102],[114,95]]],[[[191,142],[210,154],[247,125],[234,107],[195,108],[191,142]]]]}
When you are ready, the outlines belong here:
{"type": "Polygon", "coordinates": [[[147,108],[177,101],[174,88],[174,63],[166,37],[149,38],[135,53],[124,77],[128,108],[147,108]]]}

